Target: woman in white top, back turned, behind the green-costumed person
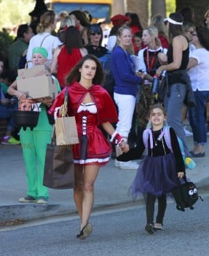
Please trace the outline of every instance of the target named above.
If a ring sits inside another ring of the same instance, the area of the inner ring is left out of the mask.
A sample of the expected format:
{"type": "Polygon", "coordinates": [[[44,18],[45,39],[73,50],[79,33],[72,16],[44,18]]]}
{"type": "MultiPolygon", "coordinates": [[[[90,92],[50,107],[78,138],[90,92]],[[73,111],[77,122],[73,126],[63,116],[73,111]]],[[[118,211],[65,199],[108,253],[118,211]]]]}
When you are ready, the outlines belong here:
{"type": "MultiPolygon", "coordinates": [[[[60,39],[58,37],[52,36],[52,31],[55,30],[56,27],[56,19],[55,19],[55,12],[47,11],[44,12],[44,14],[40,18],[40,23],[37,26],[37,33],[35,36],[33,36],[29,42],[28,46],[28,53],[26,56],[27,61],[31,61],[32,59],[32,51],[33,48],[36,47],[44,47],[47,49],[48,52],[48,59],[47,64],[50,64],[52,61],[52,55],[55,48],[58,47],[58,45],[62,45],[62,42],[60,42],[60,39]]],[[[30,67],[30,64],[29,64],[30,67]]]]}

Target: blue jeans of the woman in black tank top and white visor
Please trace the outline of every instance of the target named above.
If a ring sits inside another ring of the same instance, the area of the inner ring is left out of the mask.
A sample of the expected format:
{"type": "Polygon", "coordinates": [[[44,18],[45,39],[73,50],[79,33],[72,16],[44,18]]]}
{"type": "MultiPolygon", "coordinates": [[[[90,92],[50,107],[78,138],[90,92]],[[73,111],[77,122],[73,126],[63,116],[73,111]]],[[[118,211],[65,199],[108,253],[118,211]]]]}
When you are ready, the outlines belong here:
{"type": "Polygon", "coordinates": [[[170,86],[170,97],[165,94],[165,109],[167,110],[167,124],[176,132],[176,135],[181,138],[184,145],[184,153],[186,157],[190,157],[189,148],[186,144],[186,135],[181,122],[181,110],[186,97],[186,85],[184,83],[174,83],[170,86]]]}

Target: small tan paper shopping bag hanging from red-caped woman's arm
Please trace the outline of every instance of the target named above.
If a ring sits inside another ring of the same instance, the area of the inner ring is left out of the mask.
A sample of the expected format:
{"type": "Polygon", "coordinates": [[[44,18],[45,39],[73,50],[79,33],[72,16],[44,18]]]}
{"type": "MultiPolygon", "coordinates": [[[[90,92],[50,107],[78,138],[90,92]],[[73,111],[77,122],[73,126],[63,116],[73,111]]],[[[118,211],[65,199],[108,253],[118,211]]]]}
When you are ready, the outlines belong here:
{"type": "MultiPolygon", "coordinates": [[[[66,87],[63,108],[68,105],[68,87],[66,87]]],[[[59,118],[55,118],[56,143],[58,146],[79,143],[76,119],[74,116],[65,116],[64,113],[59,118]]]]}

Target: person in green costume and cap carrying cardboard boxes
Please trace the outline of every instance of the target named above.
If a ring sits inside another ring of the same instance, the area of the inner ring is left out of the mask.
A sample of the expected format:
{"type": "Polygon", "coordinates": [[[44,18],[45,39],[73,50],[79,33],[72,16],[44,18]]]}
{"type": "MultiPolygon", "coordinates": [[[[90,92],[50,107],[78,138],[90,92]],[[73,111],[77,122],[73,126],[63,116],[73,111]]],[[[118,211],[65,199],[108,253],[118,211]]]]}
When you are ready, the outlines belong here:
{"type": "MultiPolygon", "coordinates": [[[[33,48],[33,66],[47,63],[47,50],[43,47],[33,48]]],[[[52,76],[53,79],[56,80],[52,76]]],[[[60,86],[56,80],[58,91],[60,86]]],[[[17,80],[9,86],[8,93],[15,95],[18,99],[27,99],[22,91],[17,91],[17,80]]],[[[28,127],[25,131],[20,129],[20,142],[23,149],[23,159],[25,162],[28,191],[25,197],[19,199],[20,203],[46,204],[49,198],[48,188],[43,186],[44,162],[47,150],[47,143],[51,141],[52,124],[47,118],[47,108],[52,105],[52,99],[36,99],[41,102],[39,109],[39,120],[36,127],[28,127]]]]}

